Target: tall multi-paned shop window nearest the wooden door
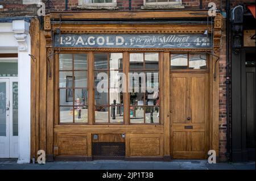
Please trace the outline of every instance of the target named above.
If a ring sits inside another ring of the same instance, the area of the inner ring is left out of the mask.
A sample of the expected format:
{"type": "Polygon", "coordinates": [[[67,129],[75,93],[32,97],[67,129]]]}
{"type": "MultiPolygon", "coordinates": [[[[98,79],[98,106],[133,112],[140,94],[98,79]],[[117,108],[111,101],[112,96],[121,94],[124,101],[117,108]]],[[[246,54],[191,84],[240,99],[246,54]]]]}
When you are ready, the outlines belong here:
{"type": "Polygon", "coordinates": [[[159,123],[159,54],[130,53],[130,123],[159,123]]]}

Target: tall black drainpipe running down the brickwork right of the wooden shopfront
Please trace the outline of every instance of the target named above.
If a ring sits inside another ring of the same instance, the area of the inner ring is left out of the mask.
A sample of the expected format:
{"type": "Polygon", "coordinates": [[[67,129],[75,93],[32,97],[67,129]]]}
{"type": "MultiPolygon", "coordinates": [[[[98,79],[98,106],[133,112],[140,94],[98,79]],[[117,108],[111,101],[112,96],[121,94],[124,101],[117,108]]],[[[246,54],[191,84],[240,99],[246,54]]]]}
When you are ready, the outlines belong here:
{"type": "Polygon", "coordinates": [[[226,139],[227,139],[227,156],[232,160],[232,137],[231,133],[231,115],[230,115],[230,23],[229,23],[229,10],[230,10],[230,0],[226,1],[226,139]]]}

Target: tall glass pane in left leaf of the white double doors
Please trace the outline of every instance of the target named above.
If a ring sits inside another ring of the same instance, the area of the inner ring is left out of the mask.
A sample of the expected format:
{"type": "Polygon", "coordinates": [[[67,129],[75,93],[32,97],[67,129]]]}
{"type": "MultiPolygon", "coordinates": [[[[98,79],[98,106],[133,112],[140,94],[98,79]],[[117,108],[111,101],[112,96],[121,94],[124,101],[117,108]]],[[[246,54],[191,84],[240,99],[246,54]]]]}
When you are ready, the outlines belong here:
{"type": "Polygon", "coordinates": [[[6,136],[6,83],[0,82],[0,136],[6,136]]]}

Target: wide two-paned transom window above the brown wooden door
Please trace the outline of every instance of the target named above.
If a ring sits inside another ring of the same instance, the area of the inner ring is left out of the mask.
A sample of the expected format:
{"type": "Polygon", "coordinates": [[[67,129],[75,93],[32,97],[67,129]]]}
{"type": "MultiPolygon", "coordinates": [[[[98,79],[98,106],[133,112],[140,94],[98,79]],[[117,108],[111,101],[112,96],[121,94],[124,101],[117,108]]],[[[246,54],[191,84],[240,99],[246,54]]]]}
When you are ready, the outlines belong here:
{"type": "Polygon", "coordinates": [[[206,54],[171,54],[171,70],[200,70],[207,69],[206,54]]]}

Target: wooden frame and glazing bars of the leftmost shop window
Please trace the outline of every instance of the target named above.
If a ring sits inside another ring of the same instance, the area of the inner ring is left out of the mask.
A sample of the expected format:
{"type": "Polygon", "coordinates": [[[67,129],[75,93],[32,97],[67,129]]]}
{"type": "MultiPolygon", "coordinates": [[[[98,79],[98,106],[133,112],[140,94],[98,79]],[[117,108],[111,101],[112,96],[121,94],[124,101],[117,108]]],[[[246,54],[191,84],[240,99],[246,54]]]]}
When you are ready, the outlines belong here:
{"type": "MultiPolygon", "coordinates": [[[[86,75],[87,75],[87,79],[88,79],[88,76],[89,76],[89,69],[88,69],[88,53],[87,52],[80,52],[80,53],[70,53],[70,52],[63,52],[63,53],[60,53],[60,54],[71,54],[72,55],[72,70],[60,70],[59,69],[59,62],[60,62],[60,57],[59,57],[59,54],[58,54],[58,56],[57,56],[57,60],[58,60],[58,62],[57,62],[57,98],[58,98],[58,107],[57,107],[57,110],[58,110],[58,124],[89,124],[89,111],[87,112],[87,114],[88,114],[88,119],[87,119],[87,123],[75,123],[75,107],[78,107],[78,106],[76,106],[75,105],[75,90],[76,89],[86,89],[87,90],[87,92],[89,92],[89,89],[88,89],[88,81],[87,81],[87,85],[86,85],[86,87],[75,87],[75,71],[86,71],[86,75]],[[86,68],[86,70],[81,70],[81,69],[78,69],[78,70],[75,70],[75,54],[86,54],[86,58],[87,58],[87,68],[86,68]],[[61,72],[61,71],[69,71],[69,72],[72,72],[72,80],[73,80],[73,82],[72,82],[72,87],[60,87],[60,79],[59,79],[59,73],[61,72]],[[68,89],[72,89],[72,91],[73,91],[73,104],[72,104],[72,106],[67,106],[67,105],[61,105],[60,104],[60,90],[68,90],[68,89]],[[60,122],[60,107],[72,107],[73,108],[73,113],[72,113],[72,115],[73,115],[73,122],[72,123],[61,123],[60,122]]],[[[88,99],[89,99],[89,97],[88,97],[88,99]]],[[[84,105],[84,106],[87,106],[88,107],[88,110],[89,110],[89,101],[87,101],[87,104],[86,105],[84,105]]]]}

